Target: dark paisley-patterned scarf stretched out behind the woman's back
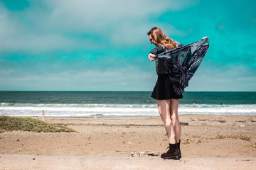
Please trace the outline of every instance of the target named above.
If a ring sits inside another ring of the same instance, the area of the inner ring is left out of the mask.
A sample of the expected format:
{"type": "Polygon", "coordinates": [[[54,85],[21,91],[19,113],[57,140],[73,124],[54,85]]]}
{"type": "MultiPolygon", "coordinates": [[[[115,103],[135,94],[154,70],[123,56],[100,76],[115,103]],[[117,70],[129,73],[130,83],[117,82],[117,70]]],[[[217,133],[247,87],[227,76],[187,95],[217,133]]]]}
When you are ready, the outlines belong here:
{"type": "Polygon", "coordinates": [[[209,47],[209,39],[204,38],[188,45],[162,52],[156,58],[164,60],[168,75],[176,94],[181,95],[188,81],[195,74],[209,47]]]}

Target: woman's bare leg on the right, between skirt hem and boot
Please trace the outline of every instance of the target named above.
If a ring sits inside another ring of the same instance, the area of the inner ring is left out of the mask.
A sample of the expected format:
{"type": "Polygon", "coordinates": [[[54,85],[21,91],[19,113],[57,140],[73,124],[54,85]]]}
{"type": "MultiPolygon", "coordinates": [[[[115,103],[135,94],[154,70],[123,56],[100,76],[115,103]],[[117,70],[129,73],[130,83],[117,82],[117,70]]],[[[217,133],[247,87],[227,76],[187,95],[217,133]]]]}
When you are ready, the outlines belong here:
{"type": "Polygon", "coordinates": [[[171,122],[174,125],[176,142],[178,142],[181,138],[181,124],[178,120],[178,99],[171,99],[170,113],[171,122]]]}

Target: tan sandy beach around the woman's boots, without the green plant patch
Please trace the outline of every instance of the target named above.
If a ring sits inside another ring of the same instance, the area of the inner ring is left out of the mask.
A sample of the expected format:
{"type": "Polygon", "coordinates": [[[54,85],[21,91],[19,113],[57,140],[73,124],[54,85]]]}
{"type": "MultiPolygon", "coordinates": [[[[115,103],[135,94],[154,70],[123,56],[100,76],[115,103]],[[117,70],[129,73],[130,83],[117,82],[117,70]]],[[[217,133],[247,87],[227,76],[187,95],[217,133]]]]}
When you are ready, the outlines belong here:
{"type": "Polygon", "coordinates": [[[178,161],[151,156],[166,152],[168,147],[159,116],[46,118],[46,121],[63,123],[77,132],[1,133],[1,169],[239,169],[240,166],[254,169],[256,166],[255,115],[180,115],[182,158],[178,161]]]}

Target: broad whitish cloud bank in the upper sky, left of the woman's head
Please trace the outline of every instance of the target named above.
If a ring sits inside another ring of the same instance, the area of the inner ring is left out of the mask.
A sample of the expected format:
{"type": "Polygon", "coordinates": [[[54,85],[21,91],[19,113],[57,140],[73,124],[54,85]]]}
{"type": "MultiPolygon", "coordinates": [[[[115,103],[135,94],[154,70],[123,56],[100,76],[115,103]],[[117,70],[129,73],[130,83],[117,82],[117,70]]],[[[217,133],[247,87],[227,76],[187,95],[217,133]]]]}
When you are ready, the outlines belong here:
{"type": "Polygon", "coordinates": [[[195,4],[174,0],[30,2],[23,11],[9,11],[0,4],[1,51],[33,53],[104,48],[110,43],[138,45],[146,40],[151,16],[195,4]],[[92,36],[81,38],[86,34],[92,36]]]}

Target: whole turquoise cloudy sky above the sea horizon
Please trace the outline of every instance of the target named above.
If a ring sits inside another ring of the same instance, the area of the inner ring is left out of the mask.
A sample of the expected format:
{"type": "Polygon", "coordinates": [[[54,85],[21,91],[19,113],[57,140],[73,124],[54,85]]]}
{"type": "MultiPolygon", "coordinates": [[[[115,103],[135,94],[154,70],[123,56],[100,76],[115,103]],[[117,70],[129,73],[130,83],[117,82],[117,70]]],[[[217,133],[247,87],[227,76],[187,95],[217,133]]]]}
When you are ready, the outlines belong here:
{"type": "Polygon", "coordinates": [[[256,91],[256,1],[0,1],[0,90],[152,91],[154,26],[210,48],[186,91],[256,91]]]}

